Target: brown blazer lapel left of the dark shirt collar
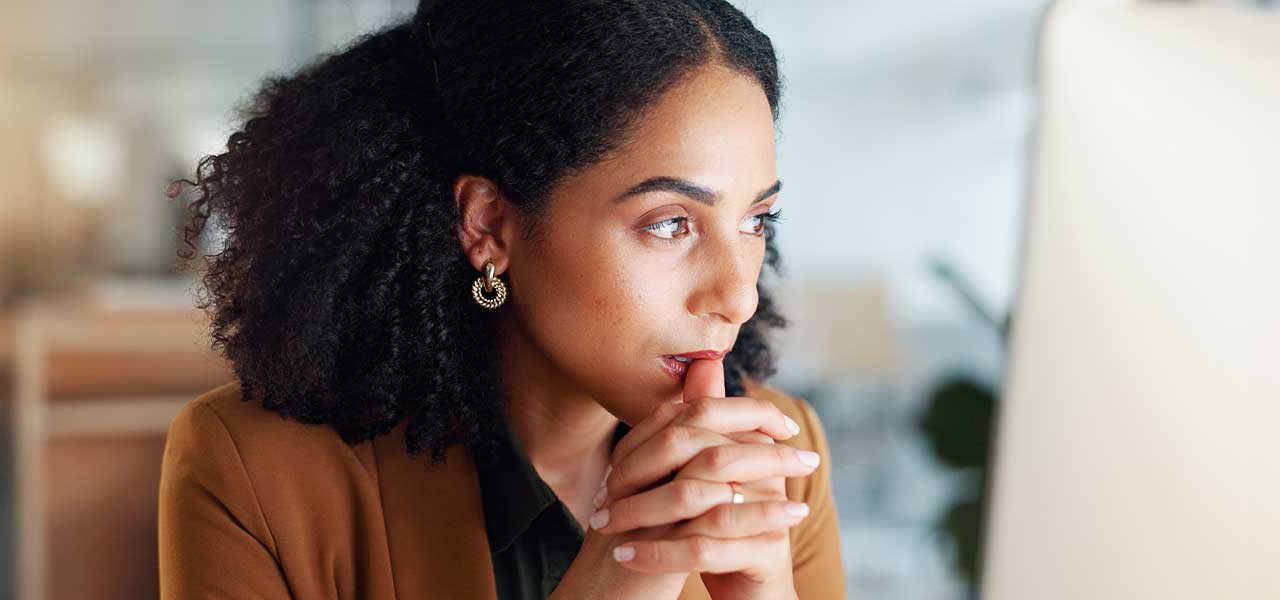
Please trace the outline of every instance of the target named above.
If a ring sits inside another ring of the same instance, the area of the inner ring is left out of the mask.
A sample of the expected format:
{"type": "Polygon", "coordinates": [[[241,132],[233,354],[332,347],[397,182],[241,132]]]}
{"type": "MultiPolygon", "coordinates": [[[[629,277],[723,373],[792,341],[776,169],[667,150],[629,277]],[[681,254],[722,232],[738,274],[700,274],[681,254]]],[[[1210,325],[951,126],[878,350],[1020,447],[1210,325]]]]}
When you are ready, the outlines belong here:
{"type": "Polygon", "coordinates": [[[372,440],[396,597],[497,600],[471,454],[454,444],[440,464],[410,457],[404,425],[372,440]]]}

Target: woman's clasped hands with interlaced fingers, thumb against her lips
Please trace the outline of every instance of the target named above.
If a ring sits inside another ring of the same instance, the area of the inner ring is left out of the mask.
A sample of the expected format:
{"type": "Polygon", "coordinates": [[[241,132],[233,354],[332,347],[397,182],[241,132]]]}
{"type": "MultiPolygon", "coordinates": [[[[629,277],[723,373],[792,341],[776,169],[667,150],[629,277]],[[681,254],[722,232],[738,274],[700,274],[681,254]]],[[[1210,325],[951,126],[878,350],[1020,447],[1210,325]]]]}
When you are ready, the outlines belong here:
{"type": "Polygon", "coordinates": [[[808,505],[788,501],[785,482],[819,457],[774,441],[799,431],[769,400],[724,398],[721,361],[694,361],[684,400],[614,446],[590,526],[632,532],[613,549],[627,569],[700,572],[716,599],[795,597],[787,532],[808,505]]]}

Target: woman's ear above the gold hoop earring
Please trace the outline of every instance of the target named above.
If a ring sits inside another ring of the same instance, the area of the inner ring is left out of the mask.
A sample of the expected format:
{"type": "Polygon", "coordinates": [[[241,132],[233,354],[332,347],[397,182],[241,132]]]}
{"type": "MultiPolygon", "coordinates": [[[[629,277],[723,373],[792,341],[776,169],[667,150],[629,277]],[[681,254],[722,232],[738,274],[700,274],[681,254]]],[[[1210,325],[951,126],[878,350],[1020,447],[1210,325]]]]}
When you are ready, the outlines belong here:
{"type": "Polygon", "coordinates": [[[453,201],[462,215],[458,241],[467,261],[481,272],[485,261],[493,261],[495,274],[506,271],[516,234],[515,205],[507,201],[493,180],[480,175],[454,179],[453,201]]]}

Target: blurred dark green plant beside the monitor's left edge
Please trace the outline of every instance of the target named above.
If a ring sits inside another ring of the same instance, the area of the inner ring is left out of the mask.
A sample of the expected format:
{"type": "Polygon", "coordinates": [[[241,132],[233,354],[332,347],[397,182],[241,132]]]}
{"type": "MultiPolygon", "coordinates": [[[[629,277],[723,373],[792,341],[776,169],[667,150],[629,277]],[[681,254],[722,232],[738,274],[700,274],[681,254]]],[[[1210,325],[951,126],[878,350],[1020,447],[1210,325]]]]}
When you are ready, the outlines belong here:
{"type": "MultiPolygon", "coordinates": [[[[932,258],[929,269],[960,297],[978,320],[991,326],[1000,340],[1001,354],[1006,354],[1012,315],[997,317],[969,281],[945,260],[932,258]]],[[[938,461],[966,475],[969,485],[956,494],[934,527],[951,539],[955,549],[952,569],[969,583],[970,595],[974,595],[982,577],[984,500],[998,397],[1000,390],[993,383],[972,374],[950,374],[929,393],[928,403],[916,420],[916,427],[938,461]]]]}

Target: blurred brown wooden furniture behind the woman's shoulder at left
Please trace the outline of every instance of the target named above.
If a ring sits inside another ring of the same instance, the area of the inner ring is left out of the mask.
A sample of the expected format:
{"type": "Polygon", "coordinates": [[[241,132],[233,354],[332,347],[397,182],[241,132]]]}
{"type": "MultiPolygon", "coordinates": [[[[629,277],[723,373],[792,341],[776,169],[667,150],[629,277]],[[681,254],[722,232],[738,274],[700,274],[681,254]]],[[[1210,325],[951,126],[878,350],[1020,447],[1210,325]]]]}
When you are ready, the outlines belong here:
{"type": "Polygon", "coordinates": [[[27,304],[12,324],[17,597],[159,595],[165,432],[233,379],[179,304],[27,304]]]}

